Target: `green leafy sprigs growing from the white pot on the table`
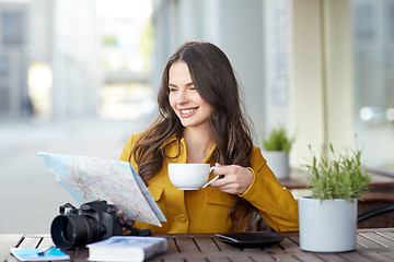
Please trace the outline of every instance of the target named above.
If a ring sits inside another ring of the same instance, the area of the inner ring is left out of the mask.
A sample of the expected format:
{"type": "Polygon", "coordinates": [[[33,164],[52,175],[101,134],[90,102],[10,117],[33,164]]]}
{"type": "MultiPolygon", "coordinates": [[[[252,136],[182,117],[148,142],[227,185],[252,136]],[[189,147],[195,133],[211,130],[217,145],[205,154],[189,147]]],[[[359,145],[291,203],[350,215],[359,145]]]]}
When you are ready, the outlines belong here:
{"type": "Polygon", "coordinates": [[[308,184],[312,190],[312,198],[326,199],[360,199],[368,191],[371,176],[361,164],[361,152],[345,147],[344,153],[336,155],[329,144],[331,157],[321,155],[317,164],[312,153],[312,163],[305,165],[309,170],[308,184]]]}

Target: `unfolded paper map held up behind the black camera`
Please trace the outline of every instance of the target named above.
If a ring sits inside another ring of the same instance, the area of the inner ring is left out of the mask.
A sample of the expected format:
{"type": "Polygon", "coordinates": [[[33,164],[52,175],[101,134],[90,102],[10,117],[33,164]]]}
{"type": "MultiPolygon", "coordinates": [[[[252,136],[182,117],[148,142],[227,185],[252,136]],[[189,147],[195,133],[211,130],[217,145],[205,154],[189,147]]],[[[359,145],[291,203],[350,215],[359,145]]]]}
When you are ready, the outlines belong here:
{"type": "Polygon", "coordinates": [[[96,198],[114,203],[127,219],[162,226],[165,217],[127,162],[39,153],[56,180],[79,203],[96,198]]]}

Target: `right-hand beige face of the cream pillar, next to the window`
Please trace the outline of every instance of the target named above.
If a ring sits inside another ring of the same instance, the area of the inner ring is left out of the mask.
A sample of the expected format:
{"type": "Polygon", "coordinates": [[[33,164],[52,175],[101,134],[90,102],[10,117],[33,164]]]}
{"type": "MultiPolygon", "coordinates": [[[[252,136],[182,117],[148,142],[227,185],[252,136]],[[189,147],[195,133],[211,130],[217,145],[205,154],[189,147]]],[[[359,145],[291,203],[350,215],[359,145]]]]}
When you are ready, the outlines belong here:
{"type": "Polygon", "coordinates": [[[355,144],[350,2],[324,2],[327,143],[355,144]]]}

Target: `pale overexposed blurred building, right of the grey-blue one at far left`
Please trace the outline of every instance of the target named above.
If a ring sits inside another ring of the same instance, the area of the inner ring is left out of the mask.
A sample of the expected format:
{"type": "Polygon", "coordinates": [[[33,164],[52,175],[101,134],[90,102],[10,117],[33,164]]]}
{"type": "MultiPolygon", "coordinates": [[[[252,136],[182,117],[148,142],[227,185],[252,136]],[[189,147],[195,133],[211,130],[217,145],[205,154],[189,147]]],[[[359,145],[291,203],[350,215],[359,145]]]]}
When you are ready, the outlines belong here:
{"type": "Polygon", "coordinates": [[[28,4],[28,83],[37,114],[55,119],[94,116],[101,85],[95,1],[28,4]]]}

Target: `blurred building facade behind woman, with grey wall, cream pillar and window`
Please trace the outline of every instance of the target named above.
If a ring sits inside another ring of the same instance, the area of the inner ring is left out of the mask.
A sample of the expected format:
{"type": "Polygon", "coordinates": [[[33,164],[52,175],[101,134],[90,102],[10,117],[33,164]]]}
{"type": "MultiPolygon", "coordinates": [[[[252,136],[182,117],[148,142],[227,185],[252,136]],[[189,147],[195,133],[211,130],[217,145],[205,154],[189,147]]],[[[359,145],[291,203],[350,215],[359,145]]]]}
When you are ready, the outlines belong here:
{"type": "Polygon", "coordinates": [[[211,41],[242,82],[256,143],[285,126],[297,136],[291,162],[301,166],[309,144],[340,148],[354,145],[357,133],[367,164],[393,171],[393,7],[390,0],[153,0],[153,86],[177,46],[211,41]]]}

